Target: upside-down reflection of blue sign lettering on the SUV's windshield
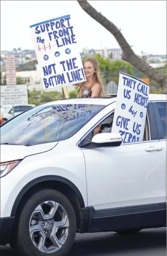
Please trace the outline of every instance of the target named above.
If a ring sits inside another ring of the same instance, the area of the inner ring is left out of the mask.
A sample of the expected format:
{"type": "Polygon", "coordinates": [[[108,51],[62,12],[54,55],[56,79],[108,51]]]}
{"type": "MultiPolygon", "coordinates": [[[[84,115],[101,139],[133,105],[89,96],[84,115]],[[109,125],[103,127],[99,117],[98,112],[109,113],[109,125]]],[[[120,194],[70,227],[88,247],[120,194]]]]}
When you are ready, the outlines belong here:
{"type": "Polygon", "coordinates": [[[62,122],[68,122],[92,114],[90,104],[63,104],[52,107],[62,122]]]}

